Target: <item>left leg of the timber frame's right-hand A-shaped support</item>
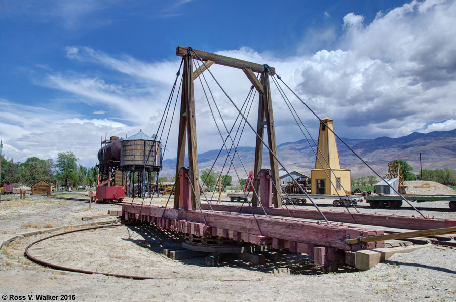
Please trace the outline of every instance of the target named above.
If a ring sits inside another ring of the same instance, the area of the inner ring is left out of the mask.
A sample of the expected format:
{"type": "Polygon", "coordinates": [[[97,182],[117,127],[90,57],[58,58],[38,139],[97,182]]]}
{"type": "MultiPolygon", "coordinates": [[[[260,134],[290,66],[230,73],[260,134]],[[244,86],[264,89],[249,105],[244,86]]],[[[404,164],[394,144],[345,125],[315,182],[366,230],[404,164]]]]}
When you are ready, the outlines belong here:
{"type": "MultiPolygon", "coordinates": [[[[265,76],[264,72],[261,73],[261,82],[263,81],[264,76],[265,76]]],[[[264,136],[263,134],[264,134],[264,124],[265,124],[263,96],[264,95],[262,93],[259,93],[259,98],[258,98],[258,122],[256,124],[256,132],[261,137],[261,139],[264,136]]],[[[256,137],[255,166],[254,166],[254,169],[253,169],[253,175],[254,175],[253,177],[256,177],[258,175],[259,171],[261,170],[262,160],[263,160],[263,143],[261,142],[261,140],[258,137],[256,137]]],[[[256,192],[259,192],[258,191],[259,182],[255,178],[254,178],[254,180],[255,181],[253,183],[253,187],[255,188],[256,192]]],[[[253,196],[252,196],[252,206],[254,206],[254,207],[258,206],[258,199],[256,198],[256,194],[255,193],[253,193],[253,196]]]]}

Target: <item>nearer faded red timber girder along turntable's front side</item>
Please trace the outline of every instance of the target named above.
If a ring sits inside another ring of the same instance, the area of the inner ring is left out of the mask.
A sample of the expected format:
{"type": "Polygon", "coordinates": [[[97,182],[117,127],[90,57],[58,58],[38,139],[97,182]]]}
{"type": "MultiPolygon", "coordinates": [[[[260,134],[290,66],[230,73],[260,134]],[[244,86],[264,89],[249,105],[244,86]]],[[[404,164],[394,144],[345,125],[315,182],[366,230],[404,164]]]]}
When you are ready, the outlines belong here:
{"type": "MultiPolygon", "coordinates": [[[[122,205],[122,210],[132,214],[204,223],[200,211],[183,211],[177,209],[164,209],[156,206],[126,204],[122,205]]],[[[353,228],[344,225],[326,225],[317,222],[300,222],[296,220],[265,217],[256,217],[257,220],[255,221],[255,218],[251,215],[232,215],[229,213],[211,211],[203,212],[208,225],[214,228],[310,243],[313,245],[337,247],[345,250],[358,250],[363,248],[361,245],[346,245],[344,241],[347,239],[347,235],[349,235],[350,238],[356,238],[357,236],[361,236],[361,232],[364,232],[364,236],[383,234],[383,231],[381,230],[353,228]]],[[[374,247],[375,245],[367,246],[367,248],[374,247]]]]}

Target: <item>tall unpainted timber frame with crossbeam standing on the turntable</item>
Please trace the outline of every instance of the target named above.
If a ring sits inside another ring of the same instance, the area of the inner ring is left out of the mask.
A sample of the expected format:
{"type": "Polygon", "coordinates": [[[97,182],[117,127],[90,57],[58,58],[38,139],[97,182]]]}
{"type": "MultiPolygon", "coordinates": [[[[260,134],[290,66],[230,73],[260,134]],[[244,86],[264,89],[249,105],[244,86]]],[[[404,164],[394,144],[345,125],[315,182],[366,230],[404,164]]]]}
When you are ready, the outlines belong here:
{"type": "MultiPolygon", "coordinates": [[[[246,74],[249,81],[256,88],[259,93],[258,101],[258,122],[257,122],[257,133],[263,139],[264,127],[268,133],[268,147],[272,150],[274,155],[277,157],[277,145],[276,145],[276,134],[274,128],[274,117],[271,100],[271,88],[269,83],[269,70],[274,72],[273,67],[267,67],[266,65],[256,64],[248,61],[243,61],[235,58],[225,57],[213,53],[208,53],[200,50],[190,49],[188,47],[178,46],[176,49],[176,55],[184,57],[184,70],[183,70],[183,89],[182,98],[180,105],[180,121],[179,121],[179,134],[177,142],[177,163],[176,163],[176,182],[174,185],[174,208],[182,208],[182,201],[180,200],[179,190],[180,184],[177,179],[179,170],[185,164],[185,136],[188,140],[188,166],[189,166],[189,178],[194,187],[195,193],[192,194],[191,210],[198,209],[200,202],[199,195],[199,173],[198,173],[198,150],[197,150],[197,138],[196,138],[196,119],[195,119],[195,96],[193,89],[193,80],[196,79],[201,73],[203,73],[212,64],[224,65],[232,68],[242,69],[246,74]],[[205,66],[198,68],[193,72],[192,58],[205,61],[205,66]],[[254,72],[260,73],[260,81],[258,81],[254,72]]],[[[255,166],[254,173],[255,177],[261,170],[262,164],[262,152],[263,144],[261,140],[256,138],[255,146],[255,166]]],[[[279,183],[279,168],[276,158],[270,154],[271,164],[271,180],[275,186],[280,190],[279,183]]],[[[255,181],[255,190],[258,191],[259,182],[255,181]]],[[[274,207],[280,207],[280,192],[273,190],[274,207]]],[[[253,206],[258,205],[258,200],[253,195],[252,200],[253,206]]]]}

